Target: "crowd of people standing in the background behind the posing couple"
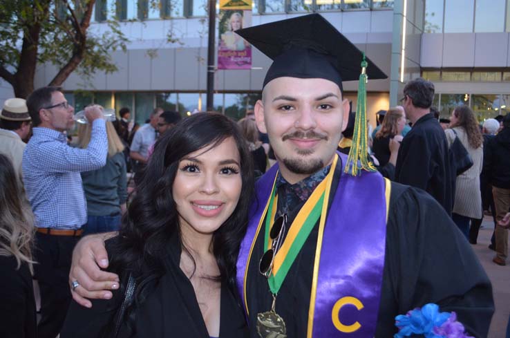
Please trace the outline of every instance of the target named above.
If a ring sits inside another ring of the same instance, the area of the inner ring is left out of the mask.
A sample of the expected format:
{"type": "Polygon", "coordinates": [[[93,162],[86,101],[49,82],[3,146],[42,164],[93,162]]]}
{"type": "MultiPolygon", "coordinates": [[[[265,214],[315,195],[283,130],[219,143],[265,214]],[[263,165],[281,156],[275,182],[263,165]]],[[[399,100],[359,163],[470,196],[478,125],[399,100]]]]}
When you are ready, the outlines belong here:
{"type": "MultiPolygon", "coordinates": [[[[375,130],[367,126],[368,156],[385,177],[433,196],[472,244],[490,214],[493,263],[506,265],[510,115],[480,124],[468,106],[457,106],[449,119],[440,119],[433,92],[424,79],[408,82],[401,105],[379,111],[375,130]]],[[[105,122],[101,107],[92,105],[85,109],[88,123],[79,124],[77,139],[68,144],[74,113],[59,88],[44,87],[26,102],[6,100],[0,114],[1,337],[57,337],[71,299],[75,243],[84,234],[119,229],[129,191],[136,194],[158,139],[181,120],[175,111],[156,108],[138,126],[122,108],[118,120],[105,122]],[[41,294],[38,324],[32,276],[41,294]]],[[[272,163],[270,142],[252,111],[238,126],[259,176],[272,163]]],[[[353,128],[351,112],[339,151],[348,153],[353,128]]]]}

